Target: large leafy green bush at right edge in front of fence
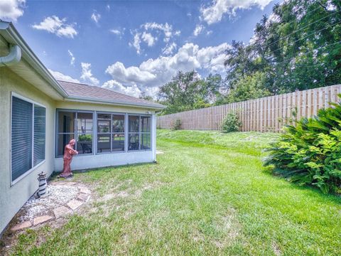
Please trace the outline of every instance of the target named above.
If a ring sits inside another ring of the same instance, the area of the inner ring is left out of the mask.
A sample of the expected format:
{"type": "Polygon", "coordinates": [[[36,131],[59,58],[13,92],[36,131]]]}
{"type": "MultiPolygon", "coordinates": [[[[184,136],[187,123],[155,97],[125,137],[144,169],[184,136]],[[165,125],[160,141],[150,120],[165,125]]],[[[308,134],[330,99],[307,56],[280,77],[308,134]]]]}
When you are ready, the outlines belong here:
{"type": "MultiPolygon", "coordinates": [[[[339,95],[341,97],[341,95],[339,95]]],[[[313,185],[323,193],[341,192],[341,103],[331,103],[313,118],[303,118],[271,147],[265,166],[299,185],[313,185]]]]}

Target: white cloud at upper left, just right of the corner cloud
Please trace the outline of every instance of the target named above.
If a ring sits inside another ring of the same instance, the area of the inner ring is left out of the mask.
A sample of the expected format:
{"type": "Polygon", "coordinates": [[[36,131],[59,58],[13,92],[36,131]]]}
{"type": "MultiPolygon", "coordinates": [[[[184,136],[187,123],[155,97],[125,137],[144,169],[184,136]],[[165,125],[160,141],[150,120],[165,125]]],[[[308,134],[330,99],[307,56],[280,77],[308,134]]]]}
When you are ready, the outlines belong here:
{"type": "Polygon", "coordinates": [[[77,31],[74,26],[75,23],[67,24],[66,18],[58,18],[58,16],[50,16],[41,21],[38,25],[35,24],[32,27],[38,30],[48,31],[48,33],[54,33],[57,36],[65,36],[66,38],[73,38],[77,35],[77,31]]]}

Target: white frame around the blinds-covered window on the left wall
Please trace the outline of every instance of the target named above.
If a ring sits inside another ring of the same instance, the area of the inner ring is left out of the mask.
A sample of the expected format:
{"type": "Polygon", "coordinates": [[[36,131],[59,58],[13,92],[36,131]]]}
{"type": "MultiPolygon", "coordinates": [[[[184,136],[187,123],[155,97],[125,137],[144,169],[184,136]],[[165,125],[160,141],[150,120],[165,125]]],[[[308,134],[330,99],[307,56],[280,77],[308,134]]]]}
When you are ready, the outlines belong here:
{"type": "Polygon", "coordinates": [[[9,169],[11,171],[11,175],[9,178],[10,178],[11,186],[18,183],[18,181],[21,181],[21,179],[28,176],[28,174],[31,174],[32,171],[37,169],[39,166],[44,164],[46,161],[46,115],[47,115],[47,112],[46,112],[46,106],[45,105],[42,105],[42,104],[40,104],[34,100],[31,100],[27,97],[23,97],[22,95],[19,95],[16,92],[11,92],[11,113],[10,113],[10,129],[9,129],[9,133],[10,133],[10,137],[9,137],[9,146],[10,146],[10,149],[9,149],[9,166],[10,167],[9,167],[9,169]],[[30,102],[31,104],[33,104],[33,107],[32,107],[32,167],[31,167],[31,169],[26,171],[24,174],[21,174],[21,176],[18,176],[18,178],[16,178],[15,180],[12,181],[12,107],[13,107],[13,97],[24,100],[26,102],[30,102]],[[36,166],[33,165],[33,163],[34,163],[34,159],[33,159],[33,154],[34,154],[34,105],[38,105],[39,107],[45,108],[45,156],[44,156],[44,160],[41,161],[36,166]]]}

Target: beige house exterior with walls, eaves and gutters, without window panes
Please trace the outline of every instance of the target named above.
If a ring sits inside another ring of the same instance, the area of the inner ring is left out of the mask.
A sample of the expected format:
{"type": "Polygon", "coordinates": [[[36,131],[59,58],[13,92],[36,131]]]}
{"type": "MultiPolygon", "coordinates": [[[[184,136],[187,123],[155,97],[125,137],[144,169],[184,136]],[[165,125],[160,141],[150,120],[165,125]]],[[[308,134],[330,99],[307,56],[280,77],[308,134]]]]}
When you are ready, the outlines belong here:
{"type": "MultiPolygon", "coordinates": [[[[0,20],[1,57],[9,53],[10,45],[18,46],[16,49],[20,49],[20,54],[16,51],[16,56],[20,55],[20,58],[11,63],[8,59],[0,62],[0,235],[28,198],[38,190],[38,174],[43,171],[50,176],[53,171],[62,169],[63,158],[55,157],[55,114],[57,110],[92,111],[94,122],[96,122],[96,112],[120,112],[125,113],[126,117],[128,114],[148,114],[152,117],[151,150],[75,156],[71,168],[77,170],[156,161],[155,110],[160,110],[163,107],[149,104],[151,102],[139,105],[134,100],[118,102],[109,99],[109,103],[105,103],[107,101],[101,98],[85,99],[81,97],[82,100],[80,100],[79,97],[70,97],[60,82],[53,78],[53,75],[23,41],[13,24],[0,20]],[[11,181],[12,95],[46,108],[45,161],[27,171],[14,182],[11,181]],[[136,105],[141,107],[129,107],[136,105]]],[[[96,140],[95,133],[93,139],[96,140]]],[[[127,145],[126,141],[125,145],[127,145]]]]}

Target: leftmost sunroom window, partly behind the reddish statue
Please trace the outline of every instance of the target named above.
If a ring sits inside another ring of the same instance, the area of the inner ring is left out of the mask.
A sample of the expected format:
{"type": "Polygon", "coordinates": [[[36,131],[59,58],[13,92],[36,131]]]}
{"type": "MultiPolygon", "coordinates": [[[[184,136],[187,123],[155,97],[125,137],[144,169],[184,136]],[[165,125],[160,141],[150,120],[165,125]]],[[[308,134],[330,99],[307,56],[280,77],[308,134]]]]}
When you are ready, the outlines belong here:
{"type": "Polygon", "coordinates": [[[78,154],[93,154],[93,113],[57,111],[56,156],[63,156],[64,148],[75,139],[78,154]]]}

